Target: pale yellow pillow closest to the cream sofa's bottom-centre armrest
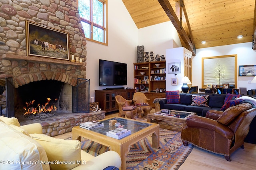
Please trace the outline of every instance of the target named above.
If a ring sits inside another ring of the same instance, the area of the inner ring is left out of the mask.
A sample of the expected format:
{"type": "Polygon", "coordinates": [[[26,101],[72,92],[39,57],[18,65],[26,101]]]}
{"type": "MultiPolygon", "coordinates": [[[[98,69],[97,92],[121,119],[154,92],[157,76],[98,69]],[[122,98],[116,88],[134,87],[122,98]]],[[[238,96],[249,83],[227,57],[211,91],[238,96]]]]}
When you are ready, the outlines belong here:
{"type": "Polygon", "coordinates": [[[49,161],[56,161],[56,163],[50,164],[51,169],[66,170],[80,165],[81,148],[79,140],[58,139],[46,134],[30,134],[30,136],[44,147],[49,161]],[[62,163],[63,161],[68,162],[62,163]]]}

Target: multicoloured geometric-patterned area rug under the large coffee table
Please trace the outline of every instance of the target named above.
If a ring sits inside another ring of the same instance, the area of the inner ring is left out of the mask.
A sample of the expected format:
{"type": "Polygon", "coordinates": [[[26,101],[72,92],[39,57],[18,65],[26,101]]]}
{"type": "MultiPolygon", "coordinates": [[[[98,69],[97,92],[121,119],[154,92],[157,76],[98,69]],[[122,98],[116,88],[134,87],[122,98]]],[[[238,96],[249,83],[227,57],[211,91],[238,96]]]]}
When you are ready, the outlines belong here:
{"type": "MultiPolygon", "coordinates": [[[[160,128],[160,148],[152,148],[152,136],[133,144],[126,157],[127,170],[178,170],[186,160],[193,145],[184,146],[181,133],[160,128]]],[[[97,156],[106,152],[108,147],[82,138],[81,148],[97,156]]]]}

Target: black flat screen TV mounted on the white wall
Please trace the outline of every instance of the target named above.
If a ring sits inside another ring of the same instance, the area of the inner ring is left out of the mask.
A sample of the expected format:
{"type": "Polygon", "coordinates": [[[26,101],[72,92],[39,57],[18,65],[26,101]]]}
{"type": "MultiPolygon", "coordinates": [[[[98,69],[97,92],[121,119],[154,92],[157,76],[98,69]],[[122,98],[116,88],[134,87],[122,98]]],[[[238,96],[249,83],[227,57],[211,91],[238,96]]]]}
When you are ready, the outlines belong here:
{"type": "Polygon", "coordinates": [[[100,59],[99,85],[127,85],[127,64],[100,59]]]}

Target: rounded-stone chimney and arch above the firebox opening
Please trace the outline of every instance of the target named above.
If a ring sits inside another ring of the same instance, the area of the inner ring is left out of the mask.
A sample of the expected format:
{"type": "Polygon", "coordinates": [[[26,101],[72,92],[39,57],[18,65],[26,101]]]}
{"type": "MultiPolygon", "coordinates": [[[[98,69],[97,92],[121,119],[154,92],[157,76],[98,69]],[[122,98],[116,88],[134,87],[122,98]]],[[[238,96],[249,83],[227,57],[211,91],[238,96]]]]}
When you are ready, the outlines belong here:
{"type": "MultiPolygon", "coordinates": [[[[80,22],[75,0],[1,0],[0,79],[12,77],[14,88],[42,80],[75,87],[78,78],[86,79],[86,38],[80,22]],[[26,56],[26,20],[67,32],[70,56],[80,57],[83,62],[26,56]]],[[[2,110],[5,102],[3,93],[2,110]]]]}

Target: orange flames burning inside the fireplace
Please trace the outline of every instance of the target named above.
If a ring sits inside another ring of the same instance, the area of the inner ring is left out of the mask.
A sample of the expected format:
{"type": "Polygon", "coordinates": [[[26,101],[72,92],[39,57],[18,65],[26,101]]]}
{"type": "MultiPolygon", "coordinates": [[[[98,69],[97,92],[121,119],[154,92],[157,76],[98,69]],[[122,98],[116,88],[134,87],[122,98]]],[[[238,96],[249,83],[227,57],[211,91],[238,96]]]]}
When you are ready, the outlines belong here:
{"type": "MultiPolygon", "coordinates": [[[[58,99],[55,99],[54,101],[56,102],[58,99]]],[[[33,107],[33,104],[35,100],[26,102],[26,106],[23,107],[25,109],[24,115],[29,115],[29,114],[36,114],[36,113],[51,113],[52,111],[56,111],[57,107],[55,105],[50,105],[51,99],[48,97],[46,99],[46,103],[44,105],[38,104],[37,107],[33,107]]]]}

